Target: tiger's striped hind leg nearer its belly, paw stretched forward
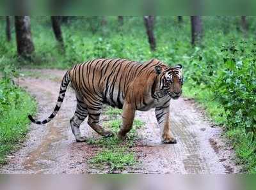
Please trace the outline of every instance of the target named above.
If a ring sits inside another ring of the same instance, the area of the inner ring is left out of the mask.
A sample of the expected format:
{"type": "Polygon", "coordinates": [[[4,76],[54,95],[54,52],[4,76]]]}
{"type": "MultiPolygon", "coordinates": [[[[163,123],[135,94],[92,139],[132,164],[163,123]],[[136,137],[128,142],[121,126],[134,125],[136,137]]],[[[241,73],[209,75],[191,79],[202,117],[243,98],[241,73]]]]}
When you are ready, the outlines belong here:
{"type": "Polygon", "coordinates": [[[89,113],[88,124],[91,128],[93,128],[94,131],[99,133],[99,135],[106,136],[106,137],[113,136],[114,133],[112,131],[106,130],[99,125],[101,110],[102,110],[102,104],[101,105],[99,104],[94,108],[88,108],[88,113],[89,113]]]}

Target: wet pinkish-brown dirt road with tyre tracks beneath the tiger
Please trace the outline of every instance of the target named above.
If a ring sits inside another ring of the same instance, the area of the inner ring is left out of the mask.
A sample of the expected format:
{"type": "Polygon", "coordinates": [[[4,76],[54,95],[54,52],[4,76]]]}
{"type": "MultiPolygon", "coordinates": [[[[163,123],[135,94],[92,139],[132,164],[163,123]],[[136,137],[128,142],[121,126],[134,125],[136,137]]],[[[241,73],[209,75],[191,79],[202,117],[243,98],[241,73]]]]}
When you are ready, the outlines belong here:
{"type": "MultiPolygon", "coordinates": [[[[38,117],[44,119],[56,103],[65,71],[31,72],[40,73],[40,77],[22,77],[19,85],[35,96],[38,117]]],[[[136,117],[146,122],[138,130],[141,140],[132,148],[140,162],[122,173],[239,173],[234,152],[221,137],[221,129],[212,125],[189,99],[172,100],[171,105],[170,123],[177,144],[161,143],[154,110],[137,112],[136,117]]],[[[72,135],[69,120],[75,108],[74,91],[68,88],[58,115],[44,126],[31,124],[28,140],[9,157],[9,164],[0,173],[106,173],[87,162],[97,147],[76,143],[72,135]]],[[[98,136],[86,122],[81,131],[88,137],[98,136]]]]}

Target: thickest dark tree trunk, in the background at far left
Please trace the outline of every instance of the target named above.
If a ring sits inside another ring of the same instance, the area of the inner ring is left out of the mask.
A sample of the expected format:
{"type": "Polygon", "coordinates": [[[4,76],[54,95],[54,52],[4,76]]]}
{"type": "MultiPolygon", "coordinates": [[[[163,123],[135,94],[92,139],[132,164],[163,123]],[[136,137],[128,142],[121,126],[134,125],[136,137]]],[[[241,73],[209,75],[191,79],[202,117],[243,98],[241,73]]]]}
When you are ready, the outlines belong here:
{"type": "Polygon", "coordinates": [[[31,58],[35,47],[31,36],[30,18],[28,16],[15,16],[15,31],[18,54],[24,58],[31,58]]]}

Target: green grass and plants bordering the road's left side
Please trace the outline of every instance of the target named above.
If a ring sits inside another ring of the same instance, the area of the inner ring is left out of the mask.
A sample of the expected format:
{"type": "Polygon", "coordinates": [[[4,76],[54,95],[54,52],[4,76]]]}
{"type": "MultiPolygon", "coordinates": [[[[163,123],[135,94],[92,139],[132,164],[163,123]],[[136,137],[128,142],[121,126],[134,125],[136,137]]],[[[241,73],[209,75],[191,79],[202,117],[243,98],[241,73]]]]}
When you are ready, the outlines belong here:
{"type": "Polygon", "coordinates": [[[28,132],[28,114],[35,112],[35,101],[13,83],[17,76],[12,66],[3,68],[0,79],[0,164],[28,132]]]}

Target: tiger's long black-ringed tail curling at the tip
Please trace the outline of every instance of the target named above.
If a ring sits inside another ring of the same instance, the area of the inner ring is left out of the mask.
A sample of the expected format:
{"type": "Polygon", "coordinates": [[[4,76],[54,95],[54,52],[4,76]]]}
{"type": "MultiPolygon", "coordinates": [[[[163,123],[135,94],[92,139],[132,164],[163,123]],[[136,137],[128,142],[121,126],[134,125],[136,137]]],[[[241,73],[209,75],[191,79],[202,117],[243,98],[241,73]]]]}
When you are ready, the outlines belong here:
{"type": "Polygon", "coordinates": [[[55,117],[55,115],[60,110],[61,104],[65,98],[65,92],[67,91],[67,87],[70,82],[70,76],[68,75],[68,73],[69,73],[69,71],[67,71],[67,73],[65,74],[65,76],[62,79],[61,86],[60,86],[60,94],[59,94],[56,106],[55,106],[52,114],[44,121],[37,121],[37,120],[33,119],[33,117],[31,115],[28,115],[28,118],[31,122],[33,122],[35,124],[39,124],[39,125],[46,124],[47,122],[51,121],[55,117]]]}

